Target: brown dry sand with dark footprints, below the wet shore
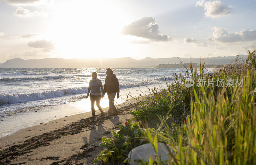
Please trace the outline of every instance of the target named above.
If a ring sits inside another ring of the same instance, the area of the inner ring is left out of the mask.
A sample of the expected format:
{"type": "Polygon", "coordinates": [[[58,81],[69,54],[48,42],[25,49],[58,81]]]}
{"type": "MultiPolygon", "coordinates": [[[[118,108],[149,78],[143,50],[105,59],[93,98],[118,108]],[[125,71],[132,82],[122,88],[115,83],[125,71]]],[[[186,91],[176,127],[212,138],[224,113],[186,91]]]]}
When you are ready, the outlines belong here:
{"type": "Polygon", "coordinates": [[[116,116],[107,117],[107,107],[104,117],[92,119],[91,112],[71,115],[0,138],[0,164],[93,164],[103,150],[101,138],[111,137],[112,130],[132,118],[128,111],[138,103],[127,102],[132,105],[116,106],[116,116]]]}

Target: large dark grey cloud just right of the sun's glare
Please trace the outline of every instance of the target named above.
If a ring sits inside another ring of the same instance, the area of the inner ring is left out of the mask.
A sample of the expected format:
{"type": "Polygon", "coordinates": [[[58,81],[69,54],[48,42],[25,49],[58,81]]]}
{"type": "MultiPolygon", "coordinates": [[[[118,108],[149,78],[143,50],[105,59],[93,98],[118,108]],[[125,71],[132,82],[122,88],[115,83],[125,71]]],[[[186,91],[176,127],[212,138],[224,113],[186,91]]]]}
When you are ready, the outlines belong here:
{"type": "Polygon", "coordinates": [[[156,19],[152,17],[142,17],[140,20],[136,20],[128,25],[125,25],[122,29],[122,34],[133,35],[149,39],[154,42],[171,41],[171,37],[168,35],[160,34],[158,32],[159,26],[156,23],[156,19]]]}

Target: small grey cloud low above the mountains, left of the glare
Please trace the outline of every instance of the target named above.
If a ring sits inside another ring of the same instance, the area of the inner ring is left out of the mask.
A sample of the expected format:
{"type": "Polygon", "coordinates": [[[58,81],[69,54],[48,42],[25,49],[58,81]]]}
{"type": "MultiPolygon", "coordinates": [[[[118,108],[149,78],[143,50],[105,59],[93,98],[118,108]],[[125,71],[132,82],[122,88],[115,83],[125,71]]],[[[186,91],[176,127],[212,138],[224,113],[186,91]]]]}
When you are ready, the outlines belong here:
{"type": "Polygon", "coordinates": [[[37,40],[35,42],[29,42],[28,46],[32,48],[44,48],[43,51],[46,51],[46,52],[50,52],[53,49],[55,49],[55,44],[52,43],[52,41],[47,41],[47,40],[37,40]]]}

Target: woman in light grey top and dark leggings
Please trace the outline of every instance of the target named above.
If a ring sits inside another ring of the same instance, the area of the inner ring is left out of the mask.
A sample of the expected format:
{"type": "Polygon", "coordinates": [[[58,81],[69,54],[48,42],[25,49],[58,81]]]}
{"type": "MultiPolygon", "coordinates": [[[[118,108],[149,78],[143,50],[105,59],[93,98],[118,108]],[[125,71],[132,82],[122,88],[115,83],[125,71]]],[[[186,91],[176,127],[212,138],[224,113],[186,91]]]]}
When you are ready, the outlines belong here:
{"type": "MultiPolygon", "coordinates": [[[[89,87],[88,87],[88,92],[86,98],[89,97],[90,94],[90,100],[91,100],[91,105],[92,105],[92,118],[95,118],[95,109],[94,109],[94,103],[96,101],[96,106],[99,108],[101,115],[104,116],[104,112],[102,111],[102,108],[100,106],[100,99],[103,98],[100,92],[103,91],[102,83],[99,79],[97,79],[97,73],[92,72],[92,80],[89,82],[89,87]]],[[[103,93],[103,92],[102,92],[103,93]]]]}

